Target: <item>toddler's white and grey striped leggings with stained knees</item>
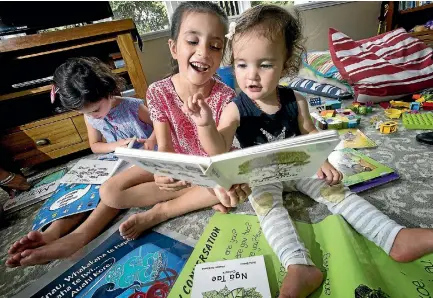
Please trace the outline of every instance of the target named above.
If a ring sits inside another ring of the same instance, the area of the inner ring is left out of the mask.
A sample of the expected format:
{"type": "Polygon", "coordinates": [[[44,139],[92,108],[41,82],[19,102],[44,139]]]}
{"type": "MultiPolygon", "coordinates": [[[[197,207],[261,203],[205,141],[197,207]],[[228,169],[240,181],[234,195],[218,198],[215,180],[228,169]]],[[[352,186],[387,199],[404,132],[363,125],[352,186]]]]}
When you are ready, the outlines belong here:
{"type": "Polygon", "coordinates": [[[364,237],[389,254],[397,233],[403,228],[376,207],[342,184],[329,186],[312,178],[254,187],[249,197],[269,245],[287,269],[289,265],[314,265],[309,251],[283,206],[283,190],[299,190],[340,214],[364,237]]]}

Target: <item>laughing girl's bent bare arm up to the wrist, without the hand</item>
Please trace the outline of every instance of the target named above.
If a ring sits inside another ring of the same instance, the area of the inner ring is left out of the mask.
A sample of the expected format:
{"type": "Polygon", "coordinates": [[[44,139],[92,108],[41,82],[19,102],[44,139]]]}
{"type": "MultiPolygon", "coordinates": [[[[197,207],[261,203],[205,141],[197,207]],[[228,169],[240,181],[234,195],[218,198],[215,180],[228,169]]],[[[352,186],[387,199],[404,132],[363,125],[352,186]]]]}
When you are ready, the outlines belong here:
{"type": "Polygon", "coordinates": [[[223,110],[218,128],[214,121],[206,126],[197,126],[198,138],[207,154],[212,156],[230,151],[239,119],[238,107],[231,102],[223,110]]]}

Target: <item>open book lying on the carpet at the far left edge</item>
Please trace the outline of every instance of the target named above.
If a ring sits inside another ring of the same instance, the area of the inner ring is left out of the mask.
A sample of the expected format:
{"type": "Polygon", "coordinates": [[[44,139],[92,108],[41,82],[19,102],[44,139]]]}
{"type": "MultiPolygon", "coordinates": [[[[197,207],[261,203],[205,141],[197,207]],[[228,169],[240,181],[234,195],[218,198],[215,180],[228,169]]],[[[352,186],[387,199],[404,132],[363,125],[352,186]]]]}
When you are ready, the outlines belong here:
{"type": "Polygon", "coordinates": [[[46,200],[57,189],[59,179],[66,173],[65,169],[51,173],[42,179],[38,179],[32,187],[27,191],[20,191],[15,194],[15,197],[8,199],[3,210],[6,214],[24,209],[28,206],[46,200]]]}

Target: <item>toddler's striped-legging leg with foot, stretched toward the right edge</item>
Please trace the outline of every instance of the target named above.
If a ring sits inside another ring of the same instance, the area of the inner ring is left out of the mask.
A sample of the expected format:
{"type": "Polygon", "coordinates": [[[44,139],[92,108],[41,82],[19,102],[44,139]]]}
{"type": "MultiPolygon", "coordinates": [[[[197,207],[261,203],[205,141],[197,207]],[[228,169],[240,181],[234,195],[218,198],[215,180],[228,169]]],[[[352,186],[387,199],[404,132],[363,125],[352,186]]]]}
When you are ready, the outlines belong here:
{"type": "Polygon", "coordinates": [[[301,179],[296,188],[340,214],[364,237],[381,247],[394,260],[409,262],[433,252],[432,229],[408,229],[379,211],[342,184],[329,186],[319,179],[301,179]]]}

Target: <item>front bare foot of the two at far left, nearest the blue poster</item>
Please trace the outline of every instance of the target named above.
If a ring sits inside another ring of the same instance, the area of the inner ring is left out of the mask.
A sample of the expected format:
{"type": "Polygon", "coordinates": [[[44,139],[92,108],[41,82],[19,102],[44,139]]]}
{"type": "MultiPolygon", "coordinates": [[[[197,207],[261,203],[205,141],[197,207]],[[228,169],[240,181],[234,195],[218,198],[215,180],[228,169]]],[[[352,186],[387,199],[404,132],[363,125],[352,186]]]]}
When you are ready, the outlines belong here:
{"type": "Polygon", "coordinates": [[[52,260],[65,259],[84,247],[87,242],[86,235],[70,233],[36,249],[24,250],[18,254],[21,258],[19,263],[22,266],[33,266],[46,264],[52,260]]]}

